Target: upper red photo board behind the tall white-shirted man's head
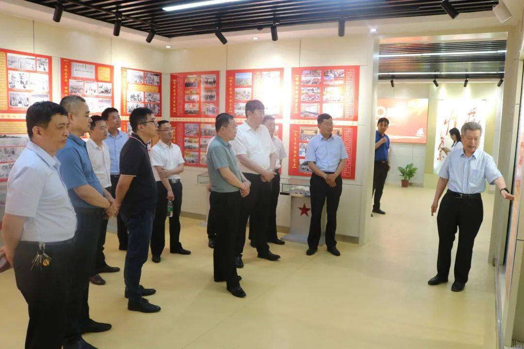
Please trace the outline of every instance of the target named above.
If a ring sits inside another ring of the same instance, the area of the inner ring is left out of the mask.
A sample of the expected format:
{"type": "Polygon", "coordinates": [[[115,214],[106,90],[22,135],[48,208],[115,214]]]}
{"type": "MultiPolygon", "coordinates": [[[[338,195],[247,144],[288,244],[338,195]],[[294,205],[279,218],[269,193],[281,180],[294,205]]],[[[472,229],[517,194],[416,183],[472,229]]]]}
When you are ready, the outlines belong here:
{"type": "Polygon", "coordinates": [[[283,68],[226,71],[226,112],[245,118],[246,102],[258,99],[266,115],[281,119],[283,77],[283,68]]]}

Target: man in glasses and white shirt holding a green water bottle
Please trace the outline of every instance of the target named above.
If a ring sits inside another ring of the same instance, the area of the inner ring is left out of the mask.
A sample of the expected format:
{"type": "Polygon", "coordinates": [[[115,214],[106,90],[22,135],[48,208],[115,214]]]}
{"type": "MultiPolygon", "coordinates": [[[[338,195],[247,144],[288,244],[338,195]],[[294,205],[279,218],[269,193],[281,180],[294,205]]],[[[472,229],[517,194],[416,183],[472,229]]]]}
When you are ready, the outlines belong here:
{"type": "Polygon", "coordinates": [[[166,244],[166,213],[168,200],[173,204],[173,216],[169,217],[169,252],[191,254],[180,243],[180,209],[182,207],[182,183],[184,158],[177,144],[173,144],[173,128],[169,121],[158,122],[160,141],[151,148],[149,157],[157,181],[157,209],[151,234],[151,260],[160,263],[160,255],[166,244]]]}

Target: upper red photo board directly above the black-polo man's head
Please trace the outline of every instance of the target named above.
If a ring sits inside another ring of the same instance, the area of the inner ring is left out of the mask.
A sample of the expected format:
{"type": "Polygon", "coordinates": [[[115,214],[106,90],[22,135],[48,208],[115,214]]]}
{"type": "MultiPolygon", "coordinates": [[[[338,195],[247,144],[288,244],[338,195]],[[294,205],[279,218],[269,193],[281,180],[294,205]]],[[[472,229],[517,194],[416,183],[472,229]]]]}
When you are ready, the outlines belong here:
{"type": "Polygon", "coordinates": [[[135,108],[146,107],[162,116],[162,74],[148,70],[122,68],[120,115],[129,116],[135,108]]]}

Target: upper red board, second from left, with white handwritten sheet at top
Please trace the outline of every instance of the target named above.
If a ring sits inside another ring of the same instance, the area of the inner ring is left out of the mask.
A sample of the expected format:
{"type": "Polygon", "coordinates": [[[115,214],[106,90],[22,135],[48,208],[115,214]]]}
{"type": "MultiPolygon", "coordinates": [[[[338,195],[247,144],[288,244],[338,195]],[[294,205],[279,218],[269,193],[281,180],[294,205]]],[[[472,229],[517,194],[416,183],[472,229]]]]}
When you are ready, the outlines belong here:
{"type": "Polygon", "coordinates": [[[84,97],[91,114],[114,106],[112,65],[61,58],[60,70],[62,97],[84,97]]]}

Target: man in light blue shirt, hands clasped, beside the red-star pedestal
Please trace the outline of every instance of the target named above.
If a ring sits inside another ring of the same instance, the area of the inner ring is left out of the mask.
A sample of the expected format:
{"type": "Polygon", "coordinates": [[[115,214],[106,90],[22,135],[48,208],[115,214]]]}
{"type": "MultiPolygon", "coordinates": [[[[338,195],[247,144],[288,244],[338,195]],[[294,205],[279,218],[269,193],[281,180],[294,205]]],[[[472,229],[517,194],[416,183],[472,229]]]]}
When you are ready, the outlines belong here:
{"type": "Polygon", "coordinates": [[[319,134],[313,137],[305,151],[305,162],[313,171],[310,181],[311,223],[309,225],[308,256],[318,249],[320,241],[320,219],[324,201],[328,202],[328,223],[326,224],[326,245],[328,251],[340,256],[336,248],[336,211],[342,194],[342,172],[346,164],[347,151],[342,138],[333,134],[333,119],[329,114],[320,114],[316,119],[319,134]]]}

